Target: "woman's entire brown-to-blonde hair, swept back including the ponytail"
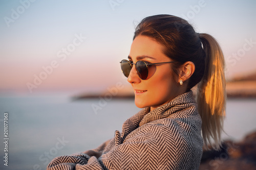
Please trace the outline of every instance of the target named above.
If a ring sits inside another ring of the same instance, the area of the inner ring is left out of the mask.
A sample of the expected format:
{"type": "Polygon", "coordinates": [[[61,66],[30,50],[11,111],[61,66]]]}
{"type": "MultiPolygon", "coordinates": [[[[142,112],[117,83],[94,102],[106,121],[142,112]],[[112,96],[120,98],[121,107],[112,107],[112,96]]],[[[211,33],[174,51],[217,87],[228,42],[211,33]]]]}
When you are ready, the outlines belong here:
{"type": "MultiPolygon", "coordinates": [[[[204,146],[219,149],[226,109],[224,57],[220,45],[209,34],[196,33],[184,19],[173,15],[154,15],[144,18],[134,34],[147,36],[164,46],[163,53],[176,61],[172,69],[187,61],[195,64],[194,74],[186,80],[187,89],[197,85],[198,112],[202,118],[204,146]],[[214,142],[212,142],[212,139],[214,142]]],[[[174,76],[175,79],[175,76],[174,76]]]]}

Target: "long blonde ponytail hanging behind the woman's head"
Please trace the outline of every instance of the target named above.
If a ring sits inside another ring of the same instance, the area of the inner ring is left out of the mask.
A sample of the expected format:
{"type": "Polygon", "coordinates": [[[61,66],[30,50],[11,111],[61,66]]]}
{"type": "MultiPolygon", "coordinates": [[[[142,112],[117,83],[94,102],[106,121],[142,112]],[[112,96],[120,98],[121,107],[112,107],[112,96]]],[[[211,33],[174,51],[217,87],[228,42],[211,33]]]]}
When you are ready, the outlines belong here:
{"type": "Polygon", "coordinates": [[[198,111],[202,118],[202,135],[205,148],[208,144],[219,149],[226,109],[226,81],[224,57],[216,39],[208,34],[199,34],[206,54],[205,71],[198,85],[198,111]],[[215,144],[212,144],[212,139],[215,144]]]}

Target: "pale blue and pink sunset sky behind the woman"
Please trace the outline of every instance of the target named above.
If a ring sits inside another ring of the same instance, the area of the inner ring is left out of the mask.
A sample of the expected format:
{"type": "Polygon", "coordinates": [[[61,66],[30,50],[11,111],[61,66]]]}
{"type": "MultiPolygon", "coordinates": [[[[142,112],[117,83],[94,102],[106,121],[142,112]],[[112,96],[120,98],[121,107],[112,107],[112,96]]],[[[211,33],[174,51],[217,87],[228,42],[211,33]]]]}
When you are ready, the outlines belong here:
{"type": "Polygon", "coordinates": [[[70,94],[129,85],[120,61],[144,17],[171,14],[220,43],[226,77],[255,71],[256,1],[0,2],[0,95],[70,94]]]}

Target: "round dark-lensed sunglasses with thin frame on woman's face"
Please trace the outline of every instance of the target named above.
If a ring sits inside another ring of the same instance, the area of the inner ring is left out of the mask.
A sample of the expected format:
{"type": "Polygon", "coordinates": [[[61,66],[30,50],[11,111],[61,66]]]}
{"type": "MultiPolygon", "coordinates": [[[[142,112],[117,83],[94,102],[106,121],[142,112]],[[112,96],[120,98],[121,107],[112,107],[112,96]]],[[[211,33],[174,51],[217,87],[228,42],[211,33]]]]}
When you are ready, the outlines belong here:
{"type": "MultiPolygon", "coordinates": [[[[162,63],[146,63],[145,61],[139,60],[135,63],[135,68],[139,78],[141,80],[146,80],[148,75],[148,66],[156,65],[156,64],[174,63],[174,62],[175,61],[162,62],[162,63]]],[[[120,63],[121,63],[121,69],[122,69],[123,75],[125,77],[129,77],[134,63],[128,60],[122,60],[120,63]]]]}

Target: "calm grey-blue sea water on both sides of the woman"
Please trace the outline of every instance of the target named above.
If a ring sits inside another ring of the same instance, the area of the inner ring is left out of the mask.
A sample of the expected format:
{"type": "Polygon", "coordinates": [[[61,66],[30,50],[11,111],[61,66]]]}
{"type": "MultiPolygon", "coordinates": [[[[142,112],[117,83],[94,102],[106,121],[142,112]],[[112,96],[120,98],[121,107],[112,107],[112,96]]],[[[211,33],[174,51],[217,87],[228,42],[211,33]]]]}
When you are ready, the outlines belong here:
{"type": "MultiPolygon", "coordinates": [[[[46,169],[57,156],[96,148],[139,110],[131,99],[2,96],[0,169],[46,169]]],[[[223,139],[242,140],[255,121],[256,99],[228,99],[223,139]]]]}

